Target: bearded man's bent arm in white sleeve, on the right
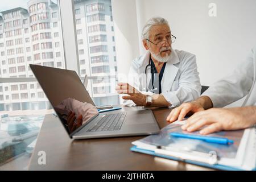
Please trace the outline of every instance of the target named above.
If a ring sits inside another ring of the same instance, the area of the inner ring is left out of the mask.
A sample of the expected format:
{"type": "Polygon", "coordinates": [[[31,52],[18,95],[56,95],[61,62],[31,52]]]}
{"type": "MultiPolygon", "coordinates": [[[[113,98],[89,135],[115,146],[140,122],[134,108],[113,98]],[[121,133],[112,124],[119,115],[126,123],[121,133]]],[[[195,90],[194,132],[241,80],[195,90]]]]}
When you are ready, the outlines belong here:
{"type": "Polygon", "coordinates": [[[191,102],[200,96],[201,84],[197,71],[196,56],[189,55],[181,65],[179,88],[176,91],[163,92],[164,98],[172,106],[179,106],[183,102],[191,102]]]}

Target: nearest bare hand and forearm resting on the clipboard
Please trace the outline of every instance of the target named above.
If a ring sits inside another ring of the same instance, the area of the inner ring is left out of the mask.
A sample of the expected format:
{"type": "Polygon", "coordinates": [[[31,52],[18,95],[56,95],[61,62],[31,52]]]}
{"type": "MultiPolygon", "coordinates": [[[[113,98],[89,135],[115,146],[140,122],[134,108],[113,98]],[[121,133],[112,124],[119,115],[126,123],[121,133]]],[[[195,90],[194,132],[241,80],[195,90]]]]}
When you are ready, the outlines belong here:
{"type": "Polygon", "coordinates": [[[221,130],[238,130],[253,126],[256,123],[256,107],[212,108],[199,111],[187,119],[181,127],[193,132],[200,130],[200,134],[207,135],[221,130]],[[206,126],[206,127],[204,127],[206,126]]]}

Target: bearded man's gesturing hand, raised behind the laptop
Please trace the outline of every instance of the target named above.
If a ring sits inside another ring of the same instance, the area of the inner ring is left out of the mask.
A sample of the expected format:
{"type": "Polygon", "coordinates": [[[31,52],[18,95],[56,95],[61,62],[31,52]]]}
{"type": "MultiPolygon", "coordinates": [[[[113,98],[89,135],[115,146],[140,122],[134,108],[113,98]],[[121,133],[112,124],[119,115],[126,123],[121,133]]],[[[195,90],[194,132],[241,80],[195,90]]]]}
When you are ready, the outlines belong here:
{"type": "Polygon", "coordinates": [[[124,100],[132,100],[138,106],[146,106],[146,95],[139,92],[133,86],[127,83],[118,83],[115,88],[119,94],[128,94],[129,96],[123,96],[124,100]]]}

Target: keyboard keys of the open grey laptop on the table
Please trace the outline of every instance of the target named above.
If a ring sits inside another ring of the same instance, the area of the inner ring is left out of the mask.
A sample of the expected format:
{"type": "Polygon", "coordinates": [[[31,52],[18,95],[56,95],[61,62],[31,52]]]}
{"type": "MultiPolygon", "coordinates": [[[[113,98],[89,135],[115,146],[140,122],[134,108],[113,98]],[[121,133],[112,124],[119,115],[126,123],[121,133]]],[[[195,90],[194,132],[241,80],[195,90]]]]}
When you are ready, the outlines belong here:
{"type": "Polygon", "coordinates": [[[102,117],[94,127],[86,132],[120,130],[123,125],[123,121],[125,121],[125,116],[126,113],[105,114],[105,117],[102,117]]]}

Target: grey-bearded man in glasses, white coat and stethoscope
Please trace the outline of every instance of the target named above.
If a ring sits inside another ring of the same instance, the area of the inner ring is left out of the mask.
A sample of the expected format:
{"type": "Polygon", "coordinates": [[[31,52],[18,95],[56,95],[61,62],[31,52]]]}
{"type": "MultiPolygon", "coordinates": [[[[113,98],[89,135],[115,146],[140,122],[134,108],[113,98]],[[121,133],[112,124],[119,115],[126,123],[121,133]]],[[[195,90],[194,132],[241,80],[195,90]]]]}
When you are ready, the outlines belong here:
{"type": "Polygon", "coordinates": [[[179,106],[200,96],[196,56],[172,49],[176,37],[164,18],[151,18],[142,31],[147,52],[133,60],[129,83],[119,82],[117,92],[128,94],[125,105],[179,106]]]}

